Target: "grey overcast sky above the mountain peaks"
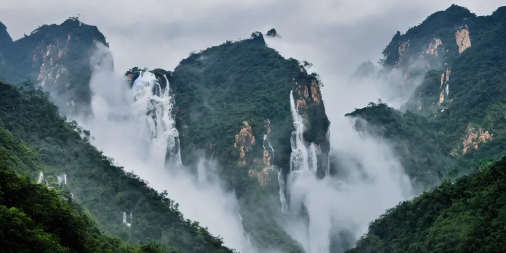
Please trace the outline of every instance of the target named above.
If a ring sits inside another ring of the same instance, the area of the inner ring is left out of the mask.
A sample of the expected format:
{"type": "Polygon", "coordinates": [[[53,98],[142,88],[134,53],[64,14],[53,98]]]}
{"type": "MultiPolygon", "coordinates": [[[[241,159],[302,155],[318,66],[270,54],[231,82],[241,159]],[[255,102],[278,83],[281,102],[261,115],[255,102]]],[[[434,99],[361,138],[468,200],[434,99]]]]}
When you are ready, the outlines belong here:
{"type": "MultiPolygon", "coordinates": [[[[80,14],[107,37],[116,69],[132,66],[173,69],[194,50],[225,40],[265,34],[285,57],[307,60],[323,80],[375,62],[397,30],[405,32],[452,3],[490,15],[503,0],[18,0],[4,1],[0,21],[14,39],[41,24],[62,23],[80,14]],[[118,5],[117,3],[121,3],[118,5]],[[381,4],[379,4],[381,3],[381,4]]],[[[472,31],[471,31],[472,33],[472,31]]]]}

